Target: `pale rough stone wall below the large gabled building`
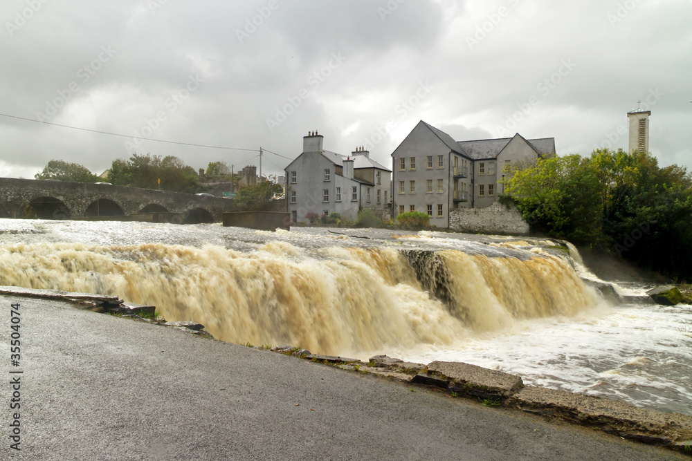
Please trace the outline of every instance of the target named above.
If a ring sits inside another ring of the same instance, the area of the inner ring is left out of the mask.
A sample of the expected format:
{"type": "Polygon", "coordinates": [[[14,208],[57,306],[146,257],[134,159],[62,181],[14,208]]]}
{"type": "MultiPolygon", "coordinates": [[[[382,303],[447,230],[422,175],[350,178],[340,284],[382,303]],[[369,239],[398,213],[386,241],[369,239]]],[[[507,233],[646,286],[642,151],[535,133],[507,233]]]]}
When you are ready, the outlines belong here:
{"type": "Polygon", "coordinates": [[[499,202],[486,208],[459,208],[449,214],[450,229],[482,234],[529,235],[529,225],[516,207],[499,202]]]}

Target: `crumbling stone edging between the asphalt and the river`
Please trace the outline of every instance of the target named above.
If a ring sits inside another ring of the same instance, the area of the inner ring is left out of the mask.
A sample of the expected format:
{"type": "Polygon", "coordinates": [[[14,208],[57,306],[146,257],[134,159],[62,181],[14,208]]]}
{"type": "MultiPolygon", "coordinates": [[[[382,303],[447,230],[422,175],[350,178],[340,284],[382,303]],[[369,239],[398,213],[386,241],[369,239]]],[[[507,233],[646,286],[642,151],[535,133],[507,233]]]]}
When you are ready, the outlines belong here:
{"type": "MultiPolygon", "coordinates": [[[[1,288],[0,293],[5,296],[11,295],[12,288],[1,288]]],[[[21,288],[17,289],[15,295],[28,297],[27,299],[71,301],[82,310],[96,312],[100,308],[103,309],[104,305],[112,309],[112,306],[120,301],[117,297],[21,288]]],[[[196,335],[201,330],[199,324],[194,324],[194,328],[188,328],[192,324],[164,323],[162,319],[157,321],[147,318],[148,316],[139,319],[138,314],[127,315],[131,315],[130,319],[159,323],[196,335]]],[[[268,346],[257,348],[264,349],[268,346]]],[[[399,382],[409,391],[425,389],[454,399],[464,397],[485,406],[503,408],[509,412],[508,415],[529,414],[553,424],[556,421],[579,424],[626,440],[692,454],[692,417],[679,413],[660,413],[600,397],[524,386],[521,377],[516,375],[467,364],[444,361],[435,361],[427,365],[412,364],[385,356],[372,357],[370,361],[364,362],[344,357],[312,355],[307,350],[289,346],[278,346],[273,350],[356,375],[370,375],[399,382]]],[[[156,360],[154,356],[149,359],[156,360]]]]}

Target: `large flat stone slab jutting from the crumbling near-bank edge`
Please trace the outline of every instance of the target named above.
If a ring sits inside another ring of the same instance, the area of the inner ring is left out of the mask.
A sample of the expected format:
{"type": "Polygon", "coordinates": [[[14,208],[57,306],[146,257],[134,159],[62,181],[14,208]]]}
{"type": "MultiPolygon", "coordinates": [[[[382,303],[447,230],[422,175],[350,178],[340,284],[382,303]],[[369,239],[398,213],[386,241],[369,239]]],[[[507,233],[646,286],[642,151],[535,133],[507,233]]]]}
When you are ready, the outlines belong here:
{"type": "Polygon", "coordinates": [[[447,379],[450,391],[483,399],[506,398],[524,387],[517,375],[455,361],[433,361],[428,375],[447,379]]]}

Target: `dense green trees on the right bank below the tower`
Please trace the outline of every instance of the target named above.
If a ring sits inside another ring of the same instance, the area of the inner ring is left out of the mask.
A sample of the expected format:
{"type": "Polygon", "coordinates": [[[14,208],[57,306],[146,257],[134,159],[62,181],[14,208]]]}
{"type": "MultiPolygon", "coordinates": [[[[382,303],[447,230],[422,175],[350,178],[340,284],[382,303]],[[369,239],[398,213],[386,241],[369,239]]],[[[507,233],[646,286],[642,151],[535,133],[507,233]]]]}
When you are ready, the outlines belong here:
{"type": "Polygon", "coordinates": [[[515,203],[538,232],[692,279],[692,176],[684,167],[597,149],[519,164],[500,200],[515,203]]]}

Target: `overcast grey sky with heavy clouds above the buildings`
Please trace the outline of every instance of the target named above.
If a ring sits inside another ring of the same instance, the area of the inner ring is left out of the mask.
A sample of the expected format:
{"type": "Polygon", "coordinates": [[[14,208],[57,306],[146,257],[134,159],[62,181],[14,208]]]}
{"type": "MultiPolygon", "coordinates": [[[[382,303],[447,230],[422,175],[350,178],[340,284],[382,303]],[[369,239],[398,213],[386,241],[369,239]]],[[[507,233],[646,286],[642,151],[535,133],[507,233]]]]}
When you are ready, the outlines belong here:
{"type": "Polygon", "coordinates": [[[0,17],[0,113],[249,149],[0,116],[0,176],[134,152],[240,169],[260,147],[295,158],[309,131],[391,167],[419,120],[588,155],[627,148],[638,100],[659,164],[692,167],[689,0],[3,0],[0,17]]]}

